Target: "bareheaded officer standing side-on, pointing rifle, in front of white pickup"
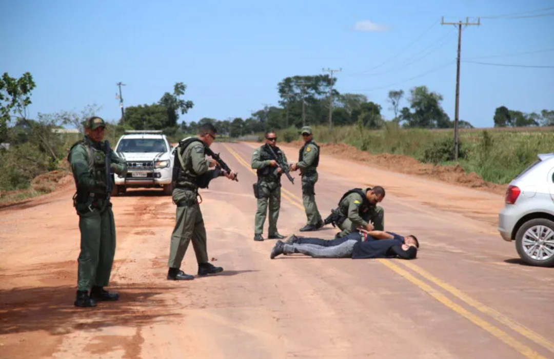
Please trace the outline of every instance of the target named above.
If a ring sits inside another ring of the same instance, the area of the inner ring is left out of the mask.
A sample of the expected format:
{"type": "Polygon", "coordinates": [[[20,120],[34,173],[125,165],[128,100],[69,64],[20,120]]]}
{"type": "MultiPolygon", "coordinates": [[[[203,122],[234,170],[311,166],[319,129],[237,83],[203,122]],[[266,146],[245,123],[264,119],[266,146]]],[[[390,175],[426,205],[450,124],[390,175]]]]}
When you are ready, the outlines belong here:
{"type": "Polygon", "coordinates": [[[197,137],[189,137],[179,143],[176,161],[181,164],[175,189],[173,189],[173,203],[177,205],[176,223],[171,234],[170,258],[168,260],[168,280],[191,280],[194,276],[184,273],[181,262],[187,252],[188,244],[192,239],[194,254],[198,263],[198,275],[216,274],[223,268],[208,262],[206,227],[197,201],[198,188],[202,176],[224,175],[234,179],[233,172],[219,172],[208,170],[217,165],[213,158],[204,155],[204,149],[216,140],[217,130],[212,124],[200,126],[197,137]]]}

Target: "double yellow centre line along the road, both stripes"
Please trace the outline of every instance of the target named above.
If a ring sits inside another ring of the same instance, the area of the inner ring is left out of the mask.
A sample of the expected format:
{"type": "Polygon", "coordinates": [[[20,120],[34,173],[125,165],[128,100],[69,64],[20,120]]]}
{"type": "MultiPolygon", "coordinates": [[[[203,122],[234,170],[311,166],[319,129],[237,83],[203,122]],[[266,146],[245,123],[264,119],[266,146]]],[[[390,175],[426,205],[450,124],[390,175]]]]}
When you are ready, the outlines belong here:
{"type": "MultiPolygon", "coordinates": [[[[228,145],[224,144],[223,146],[227,151],[231,153],[231,155],[233,155],[233,157],[237,159],[237,161],[239,161],[241,165],[248,168],[248,170],[252,171],[253,173],[256,173],[254,170],[252,170],[249,163],[245,161],[242,157],[240,157],[240,155],[237,152],[232,150],[232,148],[230,148],[228,145]]],[[[294,206],[304,209],[304,206],[302,206],[300,198],[296,197],[293,193],[291,193],[290,191],[287,191],[284,188],[281,188],[281,191],[285,192],[284,194],[281,193],[281,196],[283,196],[283,198],[285,198],[294,206]]],[[[389,269],[396,272],[397,274],[403,276],[403,278],[405,278],[406,280],[417,285],[420,289],[425,291],[425,293],[432,296],[432,298],[434,298],[441,304],[447,306],[449,309],[465,317],[469,321],[473,322],[475,325],[481,327],[481,329],[488,331],[491,335],[497,337],[502,342],[506,343],[510,347],[519,351],[522,355],[526,356],[527,358],[546,359],[546,357],[540,355],[529,346],[518,341],[513,336],[507,334],[499,327],[494,326],[490,322],[482,319],[478,315],[473,314],[469,310],[465,309],[463,306],[449,299],[446,295],[441,293],[439,290],[433,288],[433,286],[429,285],[422,279],[417,278],[417,276],[415,276],[414,274],[412,274],[411,272],[409,272],[404,268],[411,269],[413,272],[419,274],[424,279],[427,279],[430,283],[437,285],[439,288],[442,288],[444,291],[453,295],[455,298],[459,299],[460,301],[463,301],[466,305],[480,311],[483,314],[488,315],[489,317],[496,320],[497,322],[500,322],[501,324],[509,327],[511,330],[514,330],[520,335],[526,337],[527,339],[537,343],[538,345],[541,345],[542,347],[546,348],[548,351],[554,353],[554,343],[547,340],[545,337],[542,337],[541,335],[525,327],[524,325],[519,324],[515,320],[512,320],[509,317],[505,316],[504,314],[501,314],[500,312],[492,309],[491,307],[488,307],[483,303],[471,298],[471,296],[469,296],[468,294],[465,294],[463,291],[438,279],[434,275],[430,274],[428,271],[424,270],[423,268],[420,268],[420,266],[413,264],[409,261],[389,260],[389,259],[377,259],[377,260],[383,265],[387,266],[389,269]],[[397,263],[401,263],[402,265],[398,265],[397,263]]]]}

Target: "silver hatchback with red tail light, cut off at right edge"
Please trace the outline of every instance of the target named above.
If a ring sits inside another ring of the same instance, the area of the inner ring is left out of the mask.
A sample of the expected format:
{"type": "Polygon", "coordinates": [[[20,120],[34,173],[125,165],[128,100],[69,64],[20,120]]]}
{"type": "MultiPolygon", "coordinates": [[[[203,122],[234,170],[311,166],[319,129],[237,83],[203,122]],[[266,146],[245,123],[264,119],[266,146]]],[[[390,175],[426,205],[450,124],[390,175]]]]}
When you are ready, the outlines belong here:
{"type": "Polygon", "coordinates": [[[499,214],[501,237],[515,240],[525,263],[554,265],[554,153],[538,160],[510,182],[499,214]]]}

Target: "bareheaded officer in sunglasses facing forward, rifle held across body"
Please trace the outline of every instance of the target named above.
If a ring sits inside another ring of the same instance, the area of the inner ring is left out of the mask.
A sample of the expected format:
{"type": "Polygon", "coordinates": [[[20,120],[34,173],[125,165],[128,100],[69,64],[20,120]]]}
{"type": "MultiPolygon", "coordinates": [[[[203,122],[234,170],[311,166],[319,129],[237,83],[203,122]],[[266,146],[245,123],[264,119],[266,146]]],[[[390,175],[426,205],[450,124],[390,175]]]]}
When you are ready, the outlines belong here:
{"type": "Polygon", "coordinates": [[[285,153],[276,146],[277,136],[275,132],[266,132],[265,145],[256,148],[252,155],[252,168],[257,171],[258,182],[254,185],[254,195],[258,199],[258,211],[254,217],[254,240],[264,240],[261,234],[264,231],[265,217],[268,212],[269,202],[269,239],[283,239],[284,235],[277,232],[277,219],[279,218],[279,208],[281,207],[281,176],[283,170],[278,165],[282,163],[289,166],[285,153]],[[271,146],[273,152],[278,156],[274,159],[273,153],[268,146],[271,146]]]}

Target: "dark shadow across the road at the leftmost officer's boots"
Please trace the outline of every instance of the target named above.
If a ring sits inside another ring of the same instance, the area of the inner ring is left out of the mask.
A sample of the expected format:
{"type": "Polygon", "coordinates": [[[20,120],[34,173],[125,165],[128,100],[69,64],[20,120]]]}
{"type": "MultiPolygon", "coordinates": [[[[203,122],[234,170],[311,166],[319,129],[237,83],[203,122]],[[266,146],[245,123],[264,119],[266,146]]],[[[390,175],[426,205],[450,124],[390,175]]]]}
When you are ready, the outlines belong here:
{"type": "Polygon", "coordinates": [[[175,286],[117,286],[121,300],[92,308],[73,305],[75,286],[0,290],[0,335],[44,330],[63,335],[75,330],[109,326],[137,327],[180,316],[158,295],[175,286]]]}

